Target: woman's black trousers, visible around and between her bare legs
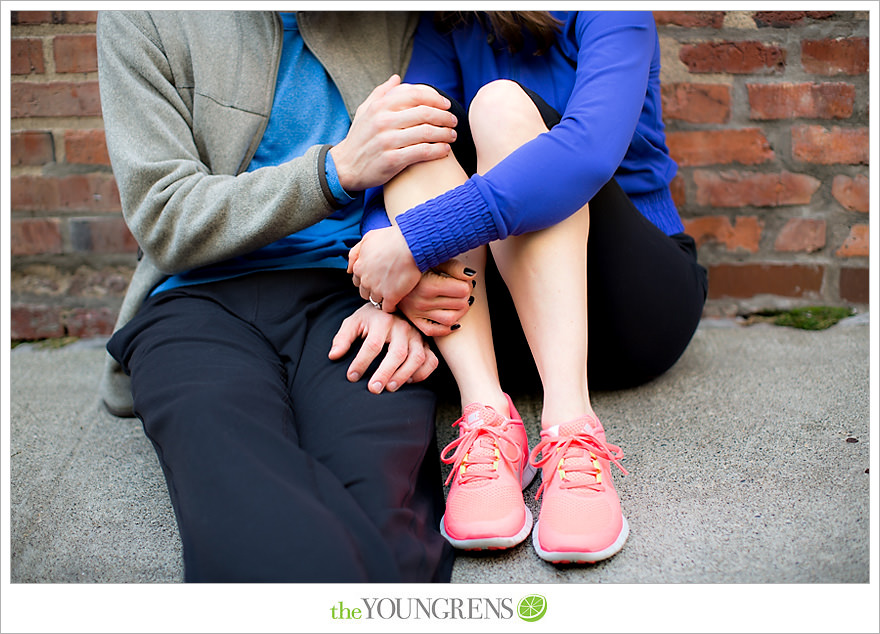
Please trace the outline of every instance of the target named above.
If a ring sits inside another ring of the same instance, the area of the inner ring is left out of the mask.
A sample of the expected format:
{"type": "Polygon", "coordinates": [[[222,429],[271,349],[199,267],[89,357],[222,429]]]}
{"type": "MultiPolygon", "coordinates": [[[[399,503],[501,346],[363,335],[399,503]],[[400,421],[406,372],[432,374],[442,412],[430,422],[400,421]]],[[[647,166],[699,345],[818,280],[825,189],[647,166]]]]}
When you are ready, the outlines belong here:
{"type": "MultiPolygon", "coordinates": [[[[561,116],[552,106],[534,91],[521,84],[520,87],[531,98],[548,129],[559,123],[561,116]]],[[[459,121],[453,151],[464,170],[472,174],[477,159],[467,113],[451,97],[450,101],[459,121]]],[[[502,386],[510,391],[538,391],[541,383],[537,368],[516,318],[513,300],[491,257],[486,277],[502,386]]],[[[590,388],[634,387],[671,368],[699,325],[707,289],[706,269],[697,263],[693,238],[684,233],[666,235],[642,215],[617,181],[611,179],[606,183],[590,200],[590,388]]],[[[444,391],[454,385],[448,373],[441,373],[435,381],[444,391]]]]}

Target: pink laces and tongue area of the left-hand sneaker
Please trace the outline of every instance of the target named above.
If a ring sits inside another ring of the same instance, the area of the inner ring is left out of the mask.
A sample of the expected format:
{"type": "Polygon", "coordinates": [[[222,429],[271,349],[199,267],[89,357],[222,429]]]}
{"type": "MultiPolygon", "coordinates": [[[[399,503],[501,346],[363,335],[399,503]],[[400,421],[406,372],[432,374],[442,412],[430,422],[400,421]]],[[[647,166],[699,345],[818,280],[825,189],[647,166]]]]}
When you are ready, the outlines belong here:
{"type": "Polygon", "coordinates": [[[443,453],[440,454],[440,460],[446,464],[452,464],[452,471],[449,472],[444,484],[449,484],[455,474],[460,472],[462,484],[473,480],[498,478],[498,460],[500,458],[503,457],[515,464],[522,457],[519,446],[505,435],[507,422],[502,425],[493,425],[480,421],[479,424],[469,427],[462,416],[452,424],[453,427],[456,425],[465,433],[446,445],[443,448],[443,453]],[[477,448],[477,451],[472,451],[474,447],[477,448]],[[505,451],[505,448],[510,450],[510,454],[505,451]],[[455,453],[447,457],[446,454],[452,449],[455,449],[455,453]],[[465,465],[463,472],[462,465],[465,465]],[[477,465],[486,466],[477,469],[471,468],[477,465]]]}

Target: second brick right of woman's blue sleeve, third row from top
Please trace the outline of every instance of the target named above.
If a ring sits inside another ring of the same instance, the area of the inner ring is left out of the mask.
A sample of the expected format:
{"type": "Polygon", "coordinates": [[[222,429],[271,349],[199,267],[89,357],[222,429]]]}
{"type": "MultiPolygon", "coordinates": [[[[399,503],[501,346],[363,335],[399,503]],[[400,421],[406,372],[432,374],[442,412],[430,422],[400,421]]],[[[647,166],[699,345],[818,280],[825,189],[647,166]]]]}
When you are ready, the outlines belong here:
{"type": "Polygon", "coordinates": [[[748,84],[752,119],[848,119],[852,84],[748,84]]]}

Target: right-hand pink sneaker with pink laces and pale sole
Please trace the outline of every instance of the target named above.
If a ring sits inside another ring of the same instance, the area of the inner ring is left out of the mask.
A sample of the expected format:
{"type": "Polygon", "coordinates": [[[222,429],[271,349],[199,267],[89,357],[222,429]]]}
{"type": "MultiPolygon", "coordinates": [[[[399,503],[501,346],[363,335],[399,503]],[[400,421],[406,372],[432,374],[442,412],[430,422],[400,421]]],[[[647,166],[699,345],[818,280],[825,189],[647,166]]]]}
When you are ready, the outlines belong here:
{"type": "Polygon", "coordinates": [[[541,432],[541,442],[529,457],[543,468],[536,499],[543,493],[544,500],[532,533],[541,559],[594,563],[623,548],[629,526],[610,469],[613,462],[626,474],[622,458],[620,447],[605,442],[605,430],[595,416],[541,432]]]}

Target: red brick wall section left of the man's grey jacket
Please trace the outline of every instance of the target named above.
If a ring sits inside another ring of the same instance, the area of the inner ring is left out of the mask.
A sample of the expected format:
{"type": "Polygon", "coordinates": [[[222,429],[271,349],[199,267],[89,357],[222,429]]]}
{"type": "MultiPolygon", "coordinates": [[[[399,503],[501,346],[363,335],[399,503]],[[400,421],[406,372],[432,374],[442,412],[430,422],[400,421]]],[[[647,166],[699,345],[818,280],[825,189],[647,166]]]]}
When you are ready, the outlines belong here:
{"type": "Polygon", "coordinates": [[[14,339],[108,334],[134,270],[104,143],[94,11],[13,11],[14,339]]]}

